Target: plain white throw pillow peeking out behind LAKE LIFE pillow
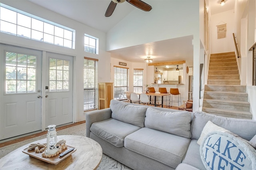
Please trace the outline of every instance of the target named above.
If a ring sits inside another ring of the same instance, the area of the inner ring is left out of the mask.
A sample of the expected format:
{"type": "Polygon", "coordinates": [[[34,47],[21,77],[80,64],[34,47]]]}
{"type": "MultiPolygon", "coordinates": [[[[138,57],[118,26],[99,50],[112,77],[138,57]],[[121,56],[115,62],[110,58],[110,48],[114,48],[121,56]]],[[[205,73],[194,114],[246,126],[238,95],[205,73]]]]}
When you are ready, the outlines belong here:
{"type": "Polygon", "coordinates": [[[197,140],[197,144],[201,145],[202,140],[204,139],[204,136],[206,136],[206,134],[208,134],[209,132],[212,132],[212,131],[227,132],[229,130],[219,127],[218,125],[215,125],[211,121],[208,121],[202,130],[200,138],[197,140]]]}

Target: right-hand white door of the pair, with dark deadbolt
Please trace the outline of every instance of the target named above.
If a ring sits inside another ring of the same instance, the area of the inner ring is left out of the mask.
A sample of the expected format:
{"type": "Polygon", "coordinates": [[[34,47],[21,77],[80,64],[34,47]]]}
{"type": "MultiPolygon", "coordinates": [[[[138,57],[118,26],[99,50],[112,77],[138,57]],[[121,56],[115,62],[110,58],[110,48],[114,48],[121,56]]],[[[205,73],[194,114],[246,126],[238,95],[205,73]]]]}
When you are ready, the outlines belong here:
{"type": "Polygon", "coordinates": [[[73,122],[73,57],[46,53],[46,63],[47,128],[73,122]]]}

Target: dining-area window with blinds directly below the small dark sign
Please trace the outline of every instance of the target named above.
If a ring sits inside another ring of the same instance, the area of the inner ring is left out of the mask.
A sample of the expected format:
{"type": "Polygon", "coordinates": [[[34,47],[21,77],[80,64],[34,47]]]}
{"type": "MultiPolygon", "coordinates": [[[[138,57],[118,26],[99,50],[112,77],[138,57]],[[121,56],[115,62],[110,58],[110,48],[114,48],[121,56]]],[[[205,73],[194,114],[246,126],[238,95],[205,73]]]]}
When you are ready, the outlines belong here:
{"type": "Polygon", "coordinates": [[[129,68],[114,66],[114,99],[126,99],[129,87],[129,68]]]}

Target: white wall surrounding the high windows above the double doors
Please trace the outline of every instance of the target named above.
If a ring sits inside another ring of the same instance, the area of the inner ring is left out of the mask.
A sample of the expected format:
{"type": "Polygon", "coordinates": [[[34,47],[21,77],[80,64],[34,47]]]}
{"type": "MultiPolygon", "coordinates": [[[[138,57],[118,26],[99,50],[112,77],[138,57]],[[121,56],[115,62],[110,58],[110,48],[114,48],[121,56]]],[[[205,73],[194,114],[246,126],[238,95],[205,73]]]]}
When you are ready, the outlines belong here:
{"type": "MultiPolygon", "coordinates": [[[[56,22],[60,25],[72,28],[76,30],[76,49],[69,49],[66,47],[60,47],[57,45],[52,45],[48,43],[42,43],[34,40],[28,40],[26,38],[20,38],[4,33],[0,33],[0,43],[6,43],[10,45],[16,45],[20,47],[37,49],[40,51],[49,51],[53,53],[60,53],[71,55],[74,57],[74,121],[84,121],[85,115],[83,111],[83,60],[84,56],[99,59],[99,82],[109,82],[110,81],[110,54],[106,52],[106,34],[95,30],[94,28],[90,28],[86,25],[83,25],[79,22],[56,14],[50,10],[46,10],[36,4],[33,4],[28,1],[19,1],[19,0],[1,0],[1,3],[6,4],[8,6],[12,6],[24,12],[28,12],[35,16],[44,18],[46,20],[56,22]],[[99,54],[91,54],[84,52],[84,34],[89,34],[96,38],[99,38],[99,54]]],[[[44,54],[44,53],[43,53],[44,54]]],[[[46,57],[45,55],[43,57],[46,57]]],[[[45,83],[45,82],[44,82],[45,83]]],[[[43,86],[44,87],[44,86],[43,86]]],[[[44,89],[42,89],[44,93],[44,89]]],[[[44,100],[44,98],[42,98],[44,100]]],[[[45,113],[42,113],[45,115],[45,113]]]]}

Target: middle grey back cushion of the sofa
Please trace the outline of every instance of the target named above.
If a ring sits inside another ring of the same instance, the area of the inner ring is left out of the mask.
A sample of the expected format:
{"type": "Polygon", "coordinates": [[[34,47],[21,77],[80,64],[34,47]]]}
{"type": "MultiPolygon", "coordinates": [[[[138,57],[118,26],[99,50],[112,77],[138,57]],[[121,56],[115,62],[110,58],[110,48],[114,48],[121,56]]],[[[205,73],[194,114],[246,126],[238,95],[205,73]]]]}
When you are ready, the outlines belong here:
{"type": "Polygon", "coordinates": [[[167,112],[149,107],[146,111],[145,127],[191,138],[190,121],[188,111],[167,112]]]}

